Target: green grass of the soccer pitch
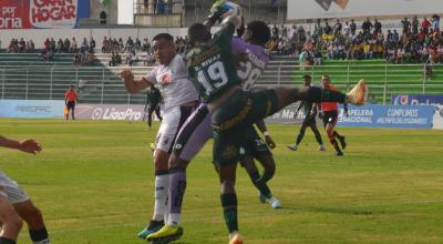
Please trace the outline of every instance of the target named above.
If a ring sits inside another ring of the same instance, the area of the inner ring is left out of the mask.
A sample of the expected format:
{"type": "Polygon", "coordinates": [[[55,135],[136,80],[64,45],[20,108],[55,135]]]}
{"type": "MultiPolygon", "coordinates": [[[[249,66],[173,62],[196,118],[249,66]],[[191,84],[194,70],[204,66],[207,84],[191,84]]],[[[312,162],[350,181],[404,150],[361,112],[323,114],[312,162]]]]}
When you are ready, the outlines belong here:
{"type": "MultiPolygon", "coordinates": [[[[0,149],[0,169],[44,213],[55,244],[136,244],[153,209],[155,129],[141,122],[0,120],[1,134],[42,142],[40,155],[0,149]]],[[[258,202],[238,170],[239,224],[248,244],[443,243],[443,131],[344,129],[343,157],[318,152],[298,126],[269,125],[278,143],[269,185],[285,209],[258,202]]],[[[323,140],[326,138],[323,136],[323,140]]],[[[188,169],[185,235],[177,244],[227,243],[210,145],[188,169]]],[[[23,230],[19,243],[29,243],[23,230]]]]}

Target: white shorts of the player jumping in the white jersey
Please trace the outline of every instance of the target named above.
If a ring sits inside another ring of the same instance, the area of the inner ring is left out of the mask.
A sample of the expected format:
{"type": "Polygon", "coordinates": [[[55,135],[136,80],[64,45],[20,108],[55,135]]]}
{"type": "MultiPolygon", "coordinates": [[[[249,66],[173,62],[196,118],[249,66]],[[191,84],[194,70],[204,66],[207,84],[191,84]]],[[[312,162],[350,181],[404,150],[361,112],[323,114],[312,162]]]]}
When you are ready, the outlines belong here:
{"type": "Polygon", "coordinates": [[[174,106],[163,114],[163,121],[155,138],[156,149],[172,152],[178,131],[193,111],[193,106],[174,106]]]}

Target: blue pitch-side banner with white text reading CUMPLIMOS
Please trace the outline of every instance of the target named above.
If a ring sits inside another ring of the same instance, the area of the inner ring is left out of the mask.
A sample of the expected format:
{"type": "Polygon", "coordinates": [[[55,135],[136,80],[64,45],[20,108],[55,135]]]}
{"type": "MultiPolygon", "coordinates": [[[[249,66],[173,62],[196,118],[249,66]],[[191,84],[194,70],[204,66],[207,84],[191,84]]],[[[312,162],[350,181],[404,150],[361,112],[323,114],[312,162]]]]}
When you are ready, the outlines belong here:
{"type": "Polygon", "coordinates": [[[434,108],[421,105],[349,106],[349,116],[340,110],[341,126],[431,129],[434,108]]]}

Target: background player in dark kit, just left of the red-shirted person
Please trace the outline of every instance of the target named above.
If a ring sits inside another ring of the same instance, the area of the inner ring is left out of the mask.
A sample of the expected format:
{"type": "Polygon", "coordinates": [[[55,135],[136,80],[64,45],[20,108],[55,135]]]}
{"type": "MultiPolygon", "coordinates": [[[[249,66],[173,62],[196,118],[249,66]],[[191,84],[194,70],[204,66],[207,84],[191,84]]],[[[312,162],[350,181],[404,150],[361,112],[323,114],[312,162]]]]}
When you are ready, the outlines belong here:
{"type": "MultiPolygon", "coordinates": [[[[309,88],[311,87],[311,82],[312,82],[312,78],[309,74],[305,74],[303,75],[303,85],[309,88]]],[[[297,108],[296,111],[296,116],[297,113],[303,109],[303,114],[305,114],[305,120],[301,123],[301,128],[300,128],[300,133],[297,136],[297,141],[293,144],[288,145],[288,149],[292,150],[292,151],[297,151],[298,145],[300,144],[301,140],[305,136],[305,132],[306,129],[308,126],[311,128],[313,134],[316,135],[316,140],[319,143],[319,151],[324,151],[324,145],[323,145],[323,141],[321,140],[321,135],[319,130],[317,129],[317,122],[316,122],[316,115],[317,115],[317,105],[315,103],[308,102],[308,101],[301,101],[300,105],[297,108]]]]}

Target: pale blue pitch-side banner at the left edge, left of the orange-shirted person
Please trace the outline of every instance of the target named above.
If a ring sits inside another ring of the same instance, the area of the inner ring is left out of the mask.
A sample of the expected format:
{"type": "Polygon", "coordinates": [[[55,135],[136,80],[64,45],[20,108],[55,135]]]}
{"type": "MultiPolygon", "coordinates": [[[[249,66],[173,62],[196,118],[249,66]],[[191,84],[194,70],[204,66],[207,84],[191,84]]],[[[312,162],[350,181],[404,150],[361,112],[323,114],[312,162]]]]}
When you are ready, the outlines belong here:
{"type": "Polygon", "coordinates": [[[0,118],[63,118],[63,100],[0,100],[0,118]]]}

